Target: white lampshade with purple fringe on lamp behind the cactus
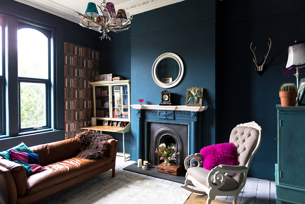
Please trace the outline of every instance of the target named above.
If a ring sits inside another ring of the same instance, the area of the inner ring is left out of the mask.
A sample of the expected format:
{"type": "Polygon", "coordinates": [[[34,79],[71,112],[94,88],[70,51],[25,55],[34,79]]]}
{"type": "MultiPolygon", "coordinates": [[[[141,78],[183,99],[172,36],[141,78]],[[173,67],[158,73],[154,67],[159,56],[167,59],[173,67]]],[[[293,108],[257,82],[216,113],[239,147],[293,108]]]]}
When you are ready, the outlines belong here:
{"type": "MultiPolygon", "coordinates": [[[[296,73],[295,69],[305,67],[305,41],[299,41],[288,45],[288,60],[283,71],[283,76],[291,77],[296,73]],[[294,68],[294,69],[292,69],[294,68]]],[[[303,69],[302,69],[303,71],[303,69]]]]}

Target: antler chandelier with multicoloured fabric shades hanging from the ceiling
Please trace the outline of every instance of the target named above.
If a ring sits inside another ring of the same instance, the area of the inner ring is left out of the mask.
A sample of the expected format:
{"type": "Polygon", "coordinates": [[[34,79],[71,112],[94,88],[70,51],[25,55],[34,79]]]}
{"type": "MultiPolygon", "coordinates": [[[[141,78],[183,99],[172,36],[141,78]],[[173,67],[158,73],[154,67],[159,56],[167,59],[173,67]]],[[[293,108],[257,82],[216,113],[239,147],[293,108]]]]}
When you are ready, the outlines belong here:
{"type": "Polygon", "coordinates": [[[77,17],[83,17],[80,23],[82,27],[90,29],[97,28],[99,32],[103,34],[99,37],[101,40],[104,38],[111,40],[107,35],[107,32],[109,31],[121,32],[130,28],[130,26],[125,26],[131,22],[132,15],[130,18],[127,18],[124,9],[119,9],[116,13],[113,3],[106,3],[105,0],[103,0],[101,6],[98,5],[98,7],[101,10],[102,15],[99,15],[96,5],[93,2],[88,3],[84,14],[77,11],[74,12],[77,13],[77,17]]]}

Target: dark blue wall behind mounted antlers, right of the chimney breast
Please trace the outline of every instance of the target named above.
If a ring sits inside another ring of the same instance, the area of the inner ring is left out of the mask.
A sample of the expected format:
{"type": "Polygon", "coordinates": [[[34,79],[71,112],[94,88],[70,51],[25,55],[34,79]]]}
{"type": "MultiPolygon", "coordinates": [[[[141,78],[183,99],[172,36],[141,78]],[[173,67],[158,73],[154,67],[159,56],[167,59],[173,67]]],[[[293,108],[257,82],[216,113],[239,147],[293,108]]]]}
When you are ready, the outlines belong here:
{"type": "MultiPolygon", "coordinates": [[[[304,40],[305,4],[302,0],[230,0],[220,2],[219,66],[217,67],[217,124],[219,142],[236,124],[255,121],[262,128],[262,143],[251,163],[249,176],[274,180],[277,163],[278,95],[282,83],[296,78],[282,76],[287,63],[287,45],[304,40]],[[268,44],[272,46],[265,62],[266,72],[254,70],[253,53],[264,61],[268,44]]],[[[305,76],[303,76],[305,77],[305,76]]],[[[303,78],[301,76],[301,78],[303,78]]]]}

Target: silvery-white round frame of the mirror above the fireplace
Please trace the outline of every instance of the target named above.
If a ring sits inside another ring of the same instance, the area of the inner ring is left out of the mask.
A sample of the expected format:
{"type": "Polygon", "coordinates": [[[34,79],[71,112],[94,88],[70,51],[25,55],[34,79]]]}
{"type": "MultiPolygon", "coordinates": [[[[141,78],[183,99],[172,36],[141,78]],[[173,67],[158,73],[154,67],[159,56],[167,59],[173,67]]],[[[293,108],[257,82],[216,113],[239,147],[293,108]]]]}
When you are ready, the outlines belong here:
{"type": "Polygon", "coordinates": [[[181,79],[183,77],[183,73],[184,73],[184,67],[183,67],[183,62],[182,62],[181,58],[177,54],[174,54],[171,52],[161,54],[152,65],[152,78],[156,82],[156,84],[158,84],[158,86],[163,87],[163,88],[171,88],[171,87],[178,85],[178,83],[181,81],[181,79]],[[174,80],[173,82],[170,82],[170,83],[163,83],[158,79],[157,74],[156,74],[156,69],[157,69],[158,63],[167,57],[174,58],[178,62],[180,69],[179,69],[179,74],[178,74],[176,80],[174,80]]]}

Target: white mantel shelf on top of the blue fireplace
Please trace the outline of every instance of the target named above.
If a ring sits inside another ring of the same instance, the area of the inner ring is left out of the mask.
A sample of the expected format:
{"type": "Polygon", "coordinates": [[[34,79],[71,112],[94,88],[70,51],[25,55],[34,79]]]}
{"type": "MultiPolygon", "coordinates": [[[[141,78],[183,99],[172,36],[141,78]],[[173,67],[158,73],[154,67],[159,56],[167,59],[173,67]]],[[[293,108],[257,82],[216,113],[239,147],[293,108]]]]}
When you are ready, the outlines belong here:
{"type": "Polygon", "coordinates": [[[147,109],[147,110],[177,110],[177,111],[192,111],[200,112],[207,109],[208,106],[159,106],[159,105],[131,105],[134,109],[147,109]]]}

